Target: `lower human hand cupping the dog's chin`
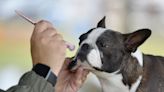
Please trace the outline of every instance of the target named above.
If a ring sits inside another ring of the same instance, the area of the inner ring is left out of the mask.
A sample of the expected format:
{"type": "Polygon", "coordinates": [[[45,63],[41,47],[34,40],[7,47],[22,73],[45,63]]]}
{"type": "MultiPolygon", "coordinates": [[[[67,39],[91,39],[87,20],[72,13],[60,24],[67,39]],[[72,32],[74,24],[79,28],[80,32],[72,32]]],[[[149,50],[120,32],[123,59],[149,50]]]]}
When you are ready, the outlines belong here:
{"type": "Polygon", "coordinates": [[[57,83],[55,85],[55,92],[77,92],[89,73],[79,67],[75,72],[68,70],[70,59],[66,59],[62,69],[59,72],[57,83]]]}

